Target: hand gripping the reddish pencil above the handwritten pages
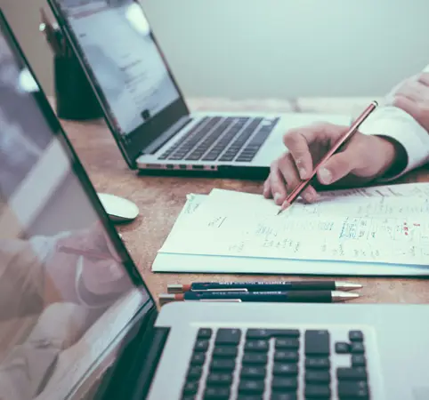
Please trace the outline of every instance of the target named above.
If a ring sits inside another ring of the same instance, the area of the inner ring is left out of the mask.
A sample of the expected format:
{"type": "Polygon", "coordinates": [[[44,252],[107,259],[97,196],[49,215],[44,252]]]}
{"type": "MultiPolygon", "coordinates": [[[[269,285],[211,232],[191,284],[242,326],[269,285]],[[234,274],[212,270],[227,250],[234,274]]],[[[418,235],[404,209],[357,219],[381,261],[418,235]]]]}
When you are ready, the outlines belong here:
{"type": "MultiPolygon", "coordinates": [[[[283,204],[287,194],[301,180],[310,178],[314,166],[348,129],[335,124],[313,124],[287,132],[283,141],[288,151],[271,164],[270,175],[263,184],[263,196],[274,197],[276,204],[283,204]]],[[[393,165],[396,153],[397,147],[390,140],[356,132],[342,151],[320,166],[317,180],[322,185],[339,180],[344,180],[344,184],[373,180],[393,165]]],[[[318,199],[311,185],[301,196],[309,203],[318,199]]]]}

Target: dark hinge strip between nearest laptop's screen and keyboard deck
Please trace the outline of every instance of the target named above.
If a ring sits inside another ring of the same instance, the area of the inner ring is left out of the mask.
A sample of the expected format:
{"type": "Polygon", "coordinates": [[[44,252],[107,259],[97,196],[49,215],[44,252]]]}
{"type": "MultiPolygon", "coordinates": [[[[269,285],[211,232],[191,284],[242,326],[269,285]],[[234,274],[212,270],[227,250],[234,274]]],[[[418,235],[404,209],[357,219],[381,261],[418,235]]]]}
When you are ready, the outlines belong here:
{"type": "Polygon", "coordinates": [[[170,332],[170,328],[153,325],[157,316],[155,311],[149,318],[145,316],[142,324],[134,325],[134,332],[129,332],[133,339],[106,372],[96,400],[146,398],[170,332]]]}

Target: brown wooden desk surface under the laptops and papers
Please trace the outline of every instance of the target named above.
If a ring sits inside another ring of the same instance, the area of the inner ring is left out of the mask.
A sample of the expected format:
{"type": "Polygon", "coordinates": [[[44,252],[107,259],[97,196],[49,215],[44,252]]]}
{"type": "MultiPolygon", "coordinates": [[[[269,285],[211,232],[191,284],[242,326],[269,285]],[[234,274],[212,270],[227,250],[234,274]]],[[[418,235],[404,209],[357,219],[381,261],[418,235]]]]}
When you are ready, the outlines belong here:
{"type": "MultiPolygon", "coordinates": [[[[355,113],[372,99],[298,99],[246,100],[225,99],[190,100],[193,110],[231,110],[268,112],[355,113]]],[[[125,161],[103,121],[89,123],[63,122],[69,138],[85,165],[93,185],[99,192],[125,196],[139,205],[141,215],[133,223],[120,227],[125,244],[140,269],[150,292],[166,292],[166,284],[190,283],[196,280],[251,280],[252,276],[153,274],[150,270],[158,249],[174,225],[188,193],[207,194],[212,188],[239,189],[261,193],[262,182],[249,180],[220,180],[200,178],[172,178],[137,176],[125,161]]],[[[401,178],[406,181],[429,181],[427,168],[411,172],[401,178]]],[[[399,182],[398,182],[399,183],[399,182]]],[[[298,277],[293,277],[297,279],[298,277]]],[[[259,278],[258,278],[259,279],[259,278]]],[[[261,279],[279,279],[263,276],[261,279]]],[[[364,284],[360,302],[429,302],[429,283],[425,279],[356,278],[364,284]]]]}

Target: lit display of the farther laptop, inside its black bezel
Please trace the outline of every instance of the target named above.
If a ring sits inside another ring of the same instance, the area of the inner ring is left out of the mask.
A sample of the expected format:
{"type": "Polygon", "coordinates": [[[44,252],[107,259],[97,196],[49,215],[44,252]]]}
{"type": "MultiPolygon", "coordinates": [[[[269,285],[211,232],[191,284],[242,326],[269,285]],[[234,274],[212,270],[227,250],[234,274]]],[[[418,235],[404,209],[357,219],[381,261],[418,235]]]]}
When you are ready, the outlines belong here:
{"type": "Polygon", "coordinates": [[[122,135],[179,98],[140,4],[57,0],[122,135]]]}

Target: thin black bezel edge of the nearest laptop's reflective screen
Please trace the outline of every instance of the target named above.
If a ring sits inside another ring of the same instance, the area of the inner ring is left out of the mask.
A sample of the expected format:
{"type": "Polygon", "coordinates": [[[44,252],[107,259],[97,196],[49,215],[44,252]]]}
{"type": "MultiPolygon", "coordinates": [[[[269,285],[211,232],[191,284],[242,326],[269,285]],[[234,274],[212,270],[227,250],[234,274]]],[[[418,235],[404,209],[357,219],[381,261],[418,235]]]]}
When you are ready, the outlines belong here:
{"type": "Polygon", "coordinates": [[[125,244],[122,239],[118,236],[116,228],[113,226],[113,223],[110,221],[108,214],[105,212],[101,200],[93,187],[91,180],[88,177],[88,174],[85,172],[85,168],[80,162],[77,153],[73,146],[71,145],[66,133],[63,131],[60,121],[53,112],[53,108],[51,104],[47,100],[45,92],[38,82],[36,75],[34,74],[33,69],[28,63],[27,58],[25,57],[20,44],[16,40],[16,36],[14,36],[12,28],[7,22],[4,12],[0,8],[0,29],[1,33],[3,33],[6,43],[9,46],[9,49],[12,51],[14,60],[17,62],[20,68],[26,68],[31,76],[34,78],[37,91],[31,92],[31,96],[36,101],[37,107],[40,109],[41,113],[45,117],[45,121],[48,124],[51,132],[53,133],[53,138],[55,140],[59,140],[61,147],[64,149],[64,152],[69,157],[69,163],[72,172],[78,177],[83,190],[85,191],[85,195],[90,200],[93,205],[94,212],[96,212],[97,217],[99,218],[102,227],[105,229],[107,235],[111,243],[114,245],[117,255],[120,257],[122,264],[130,277],[134,286],[142,291],[145,291],[148,295],[148,300],[145,303],[142,303],[142,308],[147,308],[150,306],[150,309],[156,310],[156,302],[154,301],[148,287],[144,283],[140,272],[134,264],[134,260],[131,258],[129,252],[125,248],[125,244]]]}

